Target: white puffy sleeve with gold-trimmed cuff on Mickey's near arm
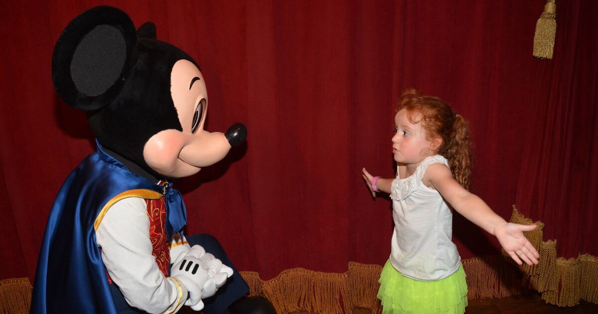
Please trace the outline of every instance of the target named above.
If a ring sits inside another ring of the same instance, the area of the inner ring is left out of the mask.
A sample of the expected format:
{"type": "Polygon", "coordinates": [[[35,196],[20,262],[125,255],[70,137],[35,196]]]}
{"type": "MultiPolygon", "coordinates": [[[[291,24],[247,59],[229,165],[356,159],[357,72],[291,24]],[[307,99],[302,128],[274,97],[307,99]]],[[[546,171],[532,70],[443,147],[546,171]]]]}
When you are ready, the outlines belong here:
{"type": "Polygon", "coordinates": [[[174,313],[187,288],[164,277],[152,255],[145,200],[128,197],[108,209],[96,230],[97,245],[110,278],[130,306],[149,313],[174,313]]]}

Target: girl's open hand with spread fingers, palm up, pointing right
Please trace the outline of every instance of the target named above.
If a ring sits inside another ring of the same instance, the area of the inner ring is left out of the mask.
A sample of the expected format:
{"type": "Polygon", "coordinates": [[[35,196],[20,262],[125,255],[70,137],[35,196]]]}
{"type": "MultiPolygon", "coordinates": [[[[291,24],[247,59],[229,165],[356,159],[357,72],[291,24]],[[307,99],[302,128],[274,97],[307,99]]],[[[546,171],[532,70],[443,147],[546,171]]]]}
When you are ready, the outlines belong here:
{"type": "Polygon", "coordinates": [[[504,225],[496,227],[494,234],[501,243],[502,247],[507,251],[511,258],[521,263],[523,260],[526,264],[538,264],[538,251],[533,247],[532,243],[523,235],[523,231],[532,231],[536,225],[520,225],[507,222],[504,225]],[[521,258],[521,259],[520,259],[521,258]]]}

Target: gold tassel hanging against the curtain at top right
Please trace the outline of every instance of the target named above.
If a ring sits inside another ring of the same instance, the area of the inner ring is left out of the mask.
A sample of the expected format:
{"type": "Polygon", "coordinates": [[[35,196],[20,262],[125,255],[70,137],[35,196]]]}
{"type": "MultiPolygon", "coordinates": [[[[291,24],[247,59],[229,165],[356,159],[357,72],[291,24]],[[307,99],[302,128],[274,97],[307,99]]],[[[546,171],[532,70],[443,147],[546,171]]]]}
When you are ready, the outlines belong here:
{"type": "Polygon", "coordinates": [[[536,23],[536,33],[533,35],[533,56],[540,59],[553,59],[554,34],[557,31],[557,5],[554,0],[548,0],[544,5],[544,12],[536,23]]]}

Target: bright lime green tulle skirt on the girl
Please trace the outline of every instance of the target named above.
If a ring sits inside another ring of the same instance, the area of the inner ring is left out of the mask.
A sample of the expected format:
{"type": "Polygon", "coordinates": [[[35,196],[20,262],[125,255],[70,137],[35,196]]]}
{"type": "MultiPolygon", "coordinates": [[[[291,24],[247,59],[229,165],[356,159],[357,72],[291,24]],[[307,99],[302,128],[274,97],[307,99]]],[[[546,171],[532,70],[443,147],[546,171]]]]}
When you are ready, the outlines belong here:
{"type": "Polygon", "coordinates": [[[379,282],[382,313],[463,313],[467,306],[463,266],[440,281],[416,281],[399,273],[389,260],[379,282]]]}

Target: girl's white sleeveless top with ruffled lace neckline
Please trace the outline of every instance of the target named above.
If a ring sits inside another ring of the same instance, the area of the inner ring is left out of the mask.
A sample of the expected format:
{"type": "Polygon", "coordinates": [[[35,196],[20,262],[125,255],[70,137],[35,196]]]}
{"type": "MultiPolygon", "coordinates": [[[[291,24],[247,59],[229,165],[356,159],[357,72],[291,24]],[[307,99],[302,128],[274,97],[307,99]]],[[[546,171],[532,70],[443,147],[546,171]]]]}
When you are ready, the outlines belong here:
{"type": "MultiPolygon", "coordinates": [[[[419,281],[438,281],[456,272],[461,264],[451,242],[453,214],[436,190],[422,184],[428,166],[449,162],[440,155],[426,157],[408,178],[392,181],[392,234],[390,263],[402,275],[419,281]]],[[[450,168],[450,167],[449,167],[450,168]]]]}

